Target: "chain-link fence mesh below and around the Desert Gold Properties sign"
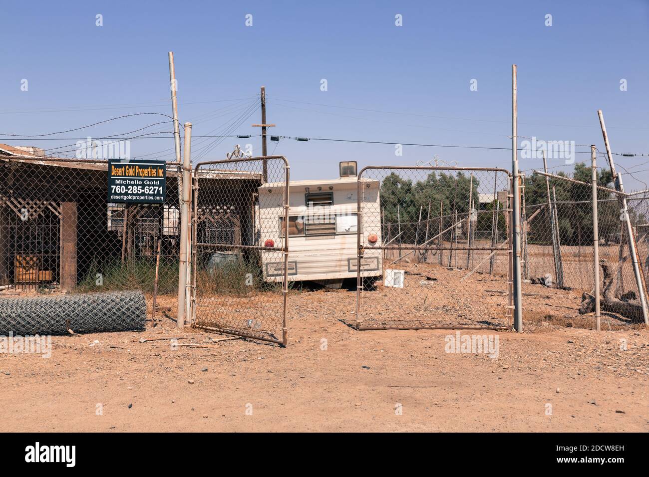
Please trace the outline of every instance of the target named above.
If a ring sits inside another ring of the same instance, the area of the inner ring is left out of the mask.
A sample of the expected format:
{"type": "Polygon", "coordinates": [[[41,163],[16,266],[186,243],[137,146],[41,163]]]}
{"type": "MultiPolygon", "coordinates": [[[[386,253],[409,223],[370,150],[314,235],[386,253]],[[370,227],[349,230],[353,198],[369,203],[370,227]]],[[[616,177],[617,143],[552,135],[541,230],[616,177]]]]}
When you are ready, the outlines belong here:
{"type": "Polygon", "coordinates": [[[167,169],[164,204],[113,204],[106,161],[3,158],[0,299],[137,290],[151,304],[156,265],[158,294],[175,295],[178,186],[167,169]]]}

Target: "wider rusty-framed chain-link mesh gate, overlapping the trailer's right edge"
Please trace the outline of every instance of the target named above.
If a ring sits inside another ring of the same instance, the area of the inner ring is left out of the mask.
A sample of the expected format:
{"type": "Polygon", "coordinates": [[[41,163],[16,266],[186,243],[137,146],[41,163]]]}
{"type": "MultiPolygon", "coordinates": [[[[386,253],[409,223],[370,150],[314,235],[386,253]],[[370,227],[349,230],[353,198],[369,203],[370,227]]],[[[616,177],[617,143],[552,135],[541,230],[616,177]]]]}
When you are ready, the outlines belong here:
{"type": "Polygon", "coordinates": [[[511,327],[509,188],[504,169],[365,167],[356,326],[511,327]]]}

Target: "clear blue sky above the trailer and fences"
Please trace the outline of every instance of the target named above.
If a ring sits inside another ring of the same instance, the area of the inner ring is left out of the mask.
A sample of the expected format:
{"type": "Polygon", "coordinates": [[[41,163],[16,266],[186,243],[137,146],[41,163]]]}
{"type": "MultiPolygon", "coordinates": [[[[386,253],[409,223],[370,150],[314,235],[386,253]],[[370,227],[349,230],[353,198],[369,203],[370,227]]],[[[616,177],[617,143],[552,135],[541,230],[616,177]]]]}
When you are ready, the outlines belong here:
{"type": "MultiPolygon", "coordinates": [[[[171,114],[167,51],[174,51],[180,121],[191,121],[195,136],[225,130],[265,85],[267,121],[277,124],[269,134],[510,147],[515,63],[519,136],[604,150],[601,108],[614,152],[649,153],[648,0],[3,1],[2,12],[0,138],[125,114],[171,114]],[[477,91],[469,88],[472,79],[477,91]],[[620,91],[621,79],[627,91],[620,91]]],[[[53,137],[99,138],[166,119],[134,116],[53,137]]],[[[234,134],[259,133],[250,127],[259,112],[241,121],[234,134]]],[[[171,126],[144,132],[155,130],[171,126]]],[[[237,142],[261,153],[259,138],[212,141],[195,138],[193,158],[225,158],[237,142]]],[[[49,149],[74,142],[10,143],[49,149]]],[[[511,167],[511,152],[485,149],[404,146],[395,156],[389,144],[287,139],[269,142],[273,151],[288,157],[295,179],[336,177],[340,160],[415,165],[434,154],[458,165],[511,167]]],[[[143,154],[172,160],[173,140],[133,140],[131,155],[143,154]]],[[[649,182],[649,157],[616,160],[637,171],[639,180],[624,178],[628,189],[649,182]]],[[[553,171],[570,169],[563,160],[549,163],[553,171]]]]}

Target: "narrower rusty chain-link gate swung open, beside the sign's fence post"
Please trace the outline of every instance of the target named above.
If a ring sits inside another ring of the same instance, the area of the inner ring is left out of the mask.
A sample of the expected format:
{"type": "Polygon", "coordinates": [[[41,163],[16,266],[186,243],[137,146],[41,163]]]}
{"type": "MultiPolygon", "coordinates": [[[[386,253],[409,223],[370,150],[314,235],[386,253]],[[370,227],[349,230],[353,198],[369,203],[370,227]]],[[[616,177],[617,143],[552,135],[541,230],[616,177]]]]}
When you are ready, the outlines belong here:
{"type": "Polygon", "coordinates": [[[196,166],[193,326],[286,346],[288,185],[284,156],[196,166]]]}

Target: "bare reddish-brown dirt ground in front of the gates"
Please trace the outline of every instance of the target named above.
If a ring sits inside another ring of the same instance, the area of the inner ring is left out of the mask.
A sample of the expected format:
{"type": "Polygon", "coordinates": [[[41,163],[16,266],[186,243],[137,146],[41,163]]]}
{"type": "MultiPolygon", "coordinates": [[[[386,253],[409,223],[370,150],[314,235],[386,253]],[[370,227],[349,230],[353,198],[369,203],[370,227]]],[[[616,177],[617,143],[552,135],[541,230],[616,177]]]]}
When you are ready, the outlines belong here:
{"type": "Polygon", "coordinates": [[[5,431],[649,431],[649,330],[615,317],[585,329],[578,293],[523,291],[526,332],[460,332],[497,336],[497,358],[447,352],[455,331],[356,331],[346,289],[291,295],[286,349],[167,318],[55,336],[48,359],[0,354],[0,419],[5,431]]]}

